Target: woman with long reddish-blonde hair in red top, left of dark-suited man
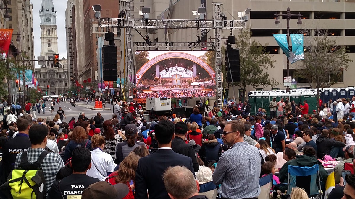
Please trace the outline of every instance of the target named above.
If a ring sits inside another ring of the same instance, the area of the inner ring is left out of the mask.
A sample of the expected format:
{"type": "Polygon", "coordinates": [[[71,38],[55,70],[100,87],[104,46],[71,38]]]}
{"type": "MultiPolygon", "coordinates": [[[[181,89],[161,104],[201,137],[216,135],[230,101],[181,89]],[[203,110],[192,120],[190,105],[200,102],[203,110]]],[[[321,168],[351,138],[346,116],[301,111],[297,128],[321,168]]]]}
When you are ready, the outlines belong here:
{"type": "Polygon", "coordinates": [[[140,157],[135,153],[130,153],[120,164],[118,171],[113,172],[106,178],[111,184],[126,184],[130,191],[123,199],[134,199],[132,189],[136,186],[136,170],[140,157]],[[133,181],[133,184],[130,182],[133,181]]]}

